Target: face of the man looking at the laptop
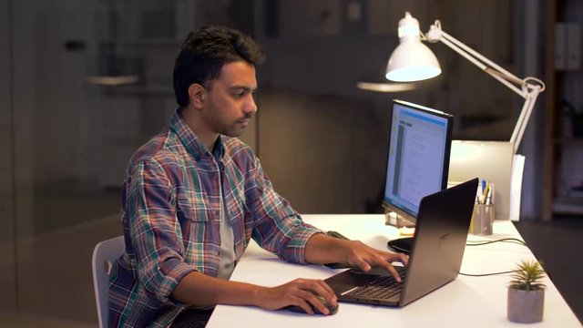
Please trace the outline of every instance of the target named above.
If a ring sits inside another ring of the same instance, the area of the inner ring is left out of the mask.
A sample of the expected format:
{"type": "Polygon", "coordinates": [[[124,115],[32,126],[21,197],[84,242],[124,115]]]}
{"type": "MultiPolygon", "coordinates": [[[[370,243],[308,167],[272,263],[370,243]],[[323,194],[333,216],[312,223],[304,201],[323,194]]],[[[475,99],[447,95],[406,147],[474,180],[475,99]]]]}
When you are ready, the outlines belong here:
{"type": "Polygon", "coordinates": [[[224,65],[219,77],[210,81],[203,121],[210,131],[239,137],[257,111],[253,93],[257,89],[255,67],[244,61],[224,65]]]}

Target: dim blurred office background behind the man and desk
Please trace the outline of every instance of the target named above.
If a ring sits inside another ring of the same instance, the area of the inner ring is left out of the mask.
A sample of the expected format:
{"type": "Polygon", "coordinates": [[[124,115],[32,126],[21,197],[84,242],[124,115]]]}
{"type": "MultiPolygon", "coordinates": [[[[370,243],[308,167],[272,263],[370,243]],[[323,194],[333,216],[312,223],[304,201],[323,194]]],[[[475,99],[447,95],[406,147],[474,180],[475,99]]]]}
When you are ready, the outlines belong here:
{"type": "Polygon", "coordinates": [[[581,250],[581,214],[551,206],[581,197],[569,186],[583,180],[583,147],[575,126],[566,132],[575,115],[561,114],[564,102],[583,111],[580,64],[553,59],[555,21],[581,26],[580,2],[0,0],[0,325],[96,325],[91,251],[121,234],[123,171],[176,108],[174,58],[198,26],[236,27],[265,47],[259,112],[243,139],[300,212],[381,210],[392,98],[454,114],[454,138],[510,138],[520,98],[443,45],[429,45],[441,77],[406,92],[356,87],[384,82],[405,11],[422,31],[440,19],[518,77],[547,84],[520,149],[518,227],[582,318],[583,291],[568,282],[583,263],[553,249],[581,250]]]}

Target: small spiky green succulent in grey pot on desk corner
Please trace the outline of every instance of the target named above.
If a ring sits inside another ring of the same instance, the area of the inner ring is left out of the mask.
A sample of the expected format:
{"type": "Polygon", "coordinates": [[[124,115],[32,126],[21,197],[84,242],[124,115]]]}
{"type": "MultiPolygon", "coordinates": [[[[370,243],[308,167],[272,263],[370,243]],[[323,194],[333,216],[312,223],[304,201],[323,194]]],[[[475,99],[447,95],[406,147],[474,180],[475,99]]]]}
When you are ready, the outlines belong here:
{"type": "Polygon", "coordinates": [[[513,323],[539,323],[545,307],[545,271],[538,261],[521,261],[508,285],[508,320],[513,323]]]}

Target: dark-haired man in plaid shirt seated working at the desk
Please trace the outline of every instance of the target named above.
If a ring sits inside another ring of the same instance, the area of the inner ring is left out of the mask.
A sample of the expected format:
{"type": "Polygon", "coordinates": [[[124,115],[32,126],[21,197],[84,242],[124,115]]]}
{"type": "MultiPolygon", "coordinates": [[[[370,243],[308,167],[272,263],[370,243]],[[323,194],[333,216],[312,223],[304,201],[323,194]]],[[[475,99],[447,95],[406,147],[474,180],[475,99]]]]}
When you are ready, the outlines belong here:
{"type": "Polygon", "coordinates": [[[255,65],[264,56],[249,36],[225,27],[190,33],[174,67],[179,109],[130,159],[123,188],[126,253],[114,265],[111,326],[204,326],[216,304],[277,310],[336,303],[320,280],[276,287],[230,282],[251,238],[285,261],[349,261],[365,271],[403,254],[334,239],[302,222],[239,138],[257,106],[255,65]]]}

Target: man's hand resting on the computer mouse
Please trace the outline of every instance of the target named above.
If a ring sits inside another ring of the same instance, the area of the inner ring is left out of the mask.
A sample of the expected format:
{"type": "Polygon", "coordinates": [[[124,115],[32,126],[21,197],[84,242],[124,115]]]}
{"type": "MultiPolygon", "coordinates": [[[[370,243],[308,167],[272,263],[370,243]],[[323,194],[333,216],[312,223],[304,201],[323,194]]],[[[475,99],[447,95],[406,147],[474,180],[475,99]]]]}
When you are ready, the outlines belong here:
{"type": "Polygon", "coordinates": [[[258,293],[257,305],[267,310],[277,310],[285,306],[299,306],[306,313],[313,314],[312,306],[321,313],[329,314],[330,311],[316,295],[322,296],[332,305],[337,302],[332,288],[322,280],[296,279],[280,286],[263,288],[258,293]]]}

